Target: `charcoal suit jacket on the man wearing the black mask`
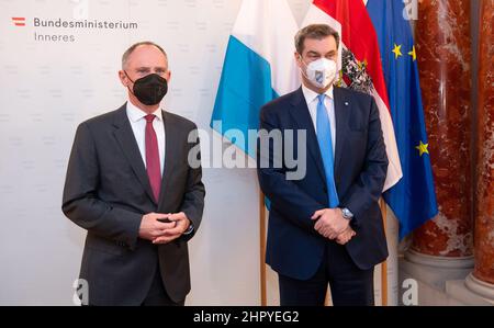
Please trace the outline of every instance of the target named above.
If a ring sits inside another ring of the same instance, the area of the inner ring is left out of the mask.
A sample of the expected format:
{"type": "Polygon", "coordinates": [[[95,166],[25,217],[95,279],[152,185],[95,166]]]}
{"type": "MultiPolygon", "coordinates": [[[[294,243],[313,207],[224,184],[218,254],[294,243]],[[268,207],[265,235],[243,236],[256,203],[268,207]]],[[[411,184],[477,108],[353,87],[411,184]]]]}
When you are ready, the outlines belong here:
{"type": "Polygon", "coordinates": [[[89,283],[90,305],[138,305],[159,265],[171,299],[190,291],[188,239],[201,223],[204,185],[201,167],[188,163],[192,122],[162,112],[166,133],[161,195],[156,203],[125,104],[81,123],[77,129],[64,189],[63,211],[88,230],[80,278],[89,283]],[[190,235],[155,246],[138,238],[144,214],[183,211],[190,235]]]}

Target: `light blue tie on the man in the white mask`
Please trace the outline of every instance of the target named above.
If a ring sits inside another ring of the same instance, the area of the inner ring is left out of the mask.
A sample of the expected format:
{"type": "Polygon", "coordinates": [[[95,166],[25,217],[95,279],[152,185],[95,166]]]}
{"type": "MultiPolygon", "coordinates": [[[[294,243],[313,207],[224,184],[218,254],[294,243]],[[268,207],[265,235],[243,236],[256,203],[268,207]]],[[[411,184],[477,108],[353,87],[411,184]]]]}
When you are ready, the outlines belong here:
{"type": "Polygon", "coordinates": [[[327,195],[329,199],[329,208],[338,206],[338,193],[336,192],[333,159],[333,142],[329,117],[324,105],[325,94],[317,95],[317,142],[319,143],[321,156],[323,157],[324,172],[326,173],[327,195]]]}

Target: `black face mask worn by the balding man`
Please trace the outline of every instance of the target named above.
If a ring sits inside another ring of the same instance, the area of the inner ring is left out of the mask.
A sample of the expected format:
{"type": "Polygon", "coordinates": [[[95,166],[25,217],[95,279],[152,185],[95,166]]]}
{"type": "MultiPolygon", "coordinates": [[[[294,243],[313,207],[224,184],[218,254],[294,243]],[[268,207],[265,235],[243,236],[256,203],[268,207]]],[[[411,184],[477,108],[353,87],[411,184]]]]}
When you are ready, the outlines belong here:
{"type": "Polygon", "coordinates": [[[134,83],[132,93],[145,105],[158,104],[168,92],[168,82],[157,73],[150,73],[133,81],[127,72],[125,75],[134,83]]]}

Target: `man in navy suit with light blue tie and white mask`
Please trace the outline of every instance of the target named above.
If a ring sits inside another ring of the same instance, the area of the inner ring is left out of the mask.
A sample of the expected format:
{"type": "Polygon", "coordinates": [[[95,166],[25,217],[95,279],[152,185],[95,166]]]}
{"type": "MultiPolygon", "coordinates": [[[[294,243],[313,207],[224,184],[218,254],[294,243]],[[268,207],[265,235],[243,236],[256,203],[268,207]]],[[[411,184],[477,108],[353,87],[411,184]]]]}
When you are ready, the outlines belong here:
{"type": "Polygon", "coordinates": [[[302,179],[288,179],[293,168],[284,161],[276,166],[281,143],[258,144],[259,183],[271,201],[266,261],[279,274],[281,305],[324,305],[328,283],[335,305],[373,305],[373,269],[388,257],[378,204],[388,170],[379,111],[372,97],[333,86],[338,44],[328,25],[302,29],[302,87],[260,113],[261,129],[306,132],[282,144],[295,157],[297,143],[306,147],[297,159],[305,160],[302,179]]]}

